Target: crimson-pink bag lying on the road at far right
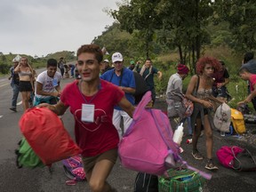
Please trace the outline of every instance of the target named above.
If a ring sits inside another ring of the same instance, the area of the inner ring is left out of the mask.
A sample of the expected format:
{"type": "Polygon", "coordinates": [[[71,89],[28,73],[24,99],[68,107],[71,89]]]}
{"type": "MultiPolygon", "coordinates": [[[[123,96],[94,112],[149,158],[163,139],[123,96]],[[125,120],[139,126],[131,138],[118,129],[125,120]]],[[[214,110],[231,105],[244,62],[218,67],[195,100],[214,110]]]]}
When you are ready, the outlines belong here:
{"type": "Polygon", "coordinates": [[[217,152],[216,155],[220,161],[220,164],[222,164],[225,167],[228,168],[234,168],[234,160],[235,156],[239,153],[241,153],[244,149],[239,148],[236,146],[228,147],[228,146],[222,146],[217,152]],[[235,156],[234,156],[235,155],[235,156]]]}

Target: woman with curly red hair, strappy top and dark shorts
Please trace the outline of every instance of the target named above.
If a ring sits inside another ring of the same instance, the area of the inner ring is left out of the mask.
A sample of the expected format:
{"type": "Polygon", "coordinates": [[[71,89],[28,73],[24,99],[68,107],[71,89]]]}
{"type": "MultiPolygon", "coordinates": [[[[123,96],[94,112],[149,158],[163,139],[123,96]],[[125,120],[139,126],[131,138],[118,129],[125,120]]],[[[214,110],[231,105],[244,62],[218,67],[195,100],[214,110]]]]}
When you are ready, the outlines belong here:
{"type": "Polygon", "coordinates": [[[202,160],[203,156],[197,149],[197,141],[199,139],[201,128],[204,126],[204,134],[206,137],[206,156],[207,164],[205,168],[208,170],[217,170],[218,167],[212,162],[212,109],[214,102],[222,103],[223,100],[212,96],[212,75],[215,71],[220,70],[220,62],[211,57],[204,57],[196,63],[197,75],[192,76],[188,84],[186,97],[194,102],[194,111],[191,115],[191,126],[194,131],[192,138],[193,152],[192,156],[197,160],[202,160]]]}

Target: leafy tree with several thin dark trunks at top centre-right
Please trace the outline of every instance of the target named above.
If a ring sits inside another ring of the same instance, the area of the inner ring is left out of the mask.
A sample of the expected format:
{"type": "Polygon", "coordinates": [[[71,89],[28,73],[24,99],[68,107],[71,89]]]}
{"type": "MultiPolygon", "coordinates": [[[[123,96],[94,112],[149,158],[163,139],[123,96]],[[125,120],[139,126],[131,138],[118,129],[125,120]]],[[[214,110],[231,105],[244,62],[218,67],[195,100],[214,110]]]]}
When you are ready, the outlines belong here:
{"type": "Polygon", "coordinates": [[[156,9],[163,20],[160,41],[177,47],[180,62],[184,64],[191,52],[195,68],[196,60],[201,56],[202,45],[210,44],[210,36],[205,27],[212,16],[212,1],[162,0],[156,9]]]}

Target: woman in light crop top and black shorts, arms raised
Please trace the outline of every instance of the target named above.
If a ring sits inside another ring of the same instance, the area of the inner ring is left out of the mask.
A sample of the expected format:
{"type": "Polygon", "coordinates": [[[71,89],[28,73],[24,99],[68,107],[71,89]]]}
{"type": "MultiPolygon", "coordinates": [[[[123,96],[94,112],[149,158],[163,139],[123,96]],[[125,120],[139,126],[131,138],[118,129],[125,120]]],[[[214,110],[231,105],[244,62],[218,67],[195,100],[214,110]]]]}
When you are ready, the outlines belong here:
{"type": "Polygon", "coordinates": [[[27,57],[21,57],[20,63],[14,69],[14,73],[18,73],[20,77],[19,91],[21,92],[22,107],[24,112],[29,108],[29,99],[31,92],[34,92],[33,68],[28,64],[27,57]]]}

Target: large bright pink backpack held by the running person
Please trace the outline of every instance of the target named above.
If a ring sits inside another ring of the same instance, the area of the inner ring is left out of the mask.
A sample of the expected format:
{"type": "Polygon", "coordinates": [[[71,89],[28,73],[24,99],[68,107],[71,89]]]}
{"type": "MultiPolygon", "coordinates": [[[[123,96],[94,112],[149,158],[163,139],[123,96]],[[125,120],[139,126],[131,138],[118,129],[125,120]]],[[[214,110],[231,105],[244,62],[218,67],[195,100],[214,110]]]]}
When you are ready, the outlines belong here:
{"type": "MultiPolygon", "coordinates": [[[[151,92],[146,92],[134,111],[132,124],[119,143],[123,166],[137,172],[163,175],[180,162],[188,169],[200,172],[182,161],[179,147],[172,140],[169,118],[159,109],[145,108],[150,100],[151,92]],[[171,161],[166,163],[166,159],[171,161]]],[[[206,179],[211,178],[211,175],[201,173],[206,179]]]]}

